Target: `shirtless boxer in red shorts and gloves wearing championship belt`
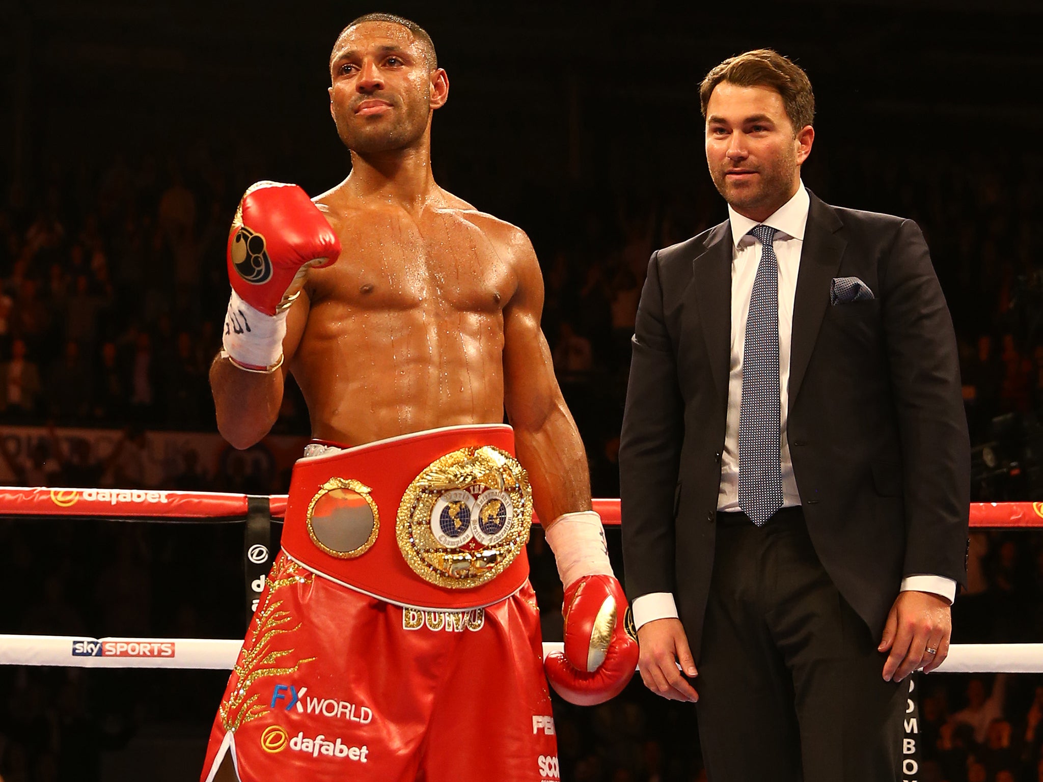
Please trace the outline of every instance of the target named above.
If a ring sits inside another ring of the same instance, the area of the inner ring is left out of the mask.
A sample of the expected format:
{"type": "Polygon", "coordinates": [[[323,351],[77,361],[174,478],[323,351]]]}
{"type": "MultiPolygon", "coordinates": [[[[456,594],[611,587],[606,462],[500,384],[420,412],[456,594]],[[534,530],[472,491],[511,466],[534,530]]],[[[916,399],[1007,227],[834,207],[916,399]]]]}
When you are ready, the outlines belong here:
{"type": "Polygon", "coordinates": [[[350,175],[314,204],[259,182],[228,241],[218,429],[237,447],[264,437],[289,371],[316,442],[202,779],[555,780],[547,679],[600,703],[637,651],[540,332],[539,266],[522,230],[434,181],[448,79],[422,29],[362,17],[330,71],[350,175]],[[565,587],[547,678],[533,505],[565,587]]]}

